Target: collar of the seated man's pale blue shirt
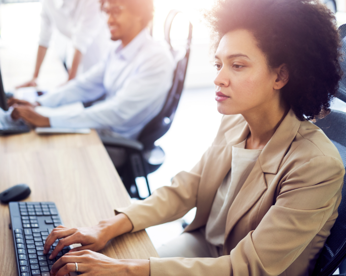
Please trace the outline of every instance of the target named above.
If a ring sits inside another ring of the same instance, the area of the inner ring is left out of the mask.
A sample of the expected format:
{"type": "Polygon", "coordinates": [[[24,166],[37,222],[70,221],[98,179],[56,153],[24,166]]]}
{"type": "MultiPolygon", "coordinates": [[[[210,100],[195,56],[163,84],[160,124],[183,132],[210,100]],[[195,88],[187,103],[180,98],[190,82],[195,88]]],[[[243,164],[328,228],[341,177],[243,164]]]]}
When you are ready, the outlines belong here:
{"type": "Polygon", "coordinates": [[[146,41],[150,40],[150,34],[147,28],[141,30],[133,40],[122,48],[121,44],[116,50],[116,53],[125,60],[132,60],[140,48],[146,41]]]}

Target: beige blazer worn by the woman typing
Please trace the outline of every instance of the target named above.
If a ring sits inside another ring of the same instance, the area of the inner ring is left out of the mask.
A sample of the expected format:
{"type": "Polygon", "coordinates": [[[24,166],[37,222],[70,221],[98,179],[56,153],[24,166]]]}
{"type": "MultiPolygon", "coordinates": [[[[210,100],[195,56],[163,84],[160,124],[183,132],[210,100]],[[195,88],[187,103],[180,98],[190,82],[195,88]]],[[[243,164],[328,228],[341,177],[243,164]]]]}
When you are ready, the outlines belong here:
{"type": "MultiPolygon", "coordinates": [[[[186,231],[206,225],[231,167],[232,146],[248,134],[241,115],[224,116],[212,146],[190,172],[117,211],[130,218],[133,232],[181,218],[193,207],[196,216],[186,231]]],[[[224,256],[150,258],[151,276],[311,275],[337,217],[344,173],[332,142],[290,110],[229,209],[224,256]]]]}

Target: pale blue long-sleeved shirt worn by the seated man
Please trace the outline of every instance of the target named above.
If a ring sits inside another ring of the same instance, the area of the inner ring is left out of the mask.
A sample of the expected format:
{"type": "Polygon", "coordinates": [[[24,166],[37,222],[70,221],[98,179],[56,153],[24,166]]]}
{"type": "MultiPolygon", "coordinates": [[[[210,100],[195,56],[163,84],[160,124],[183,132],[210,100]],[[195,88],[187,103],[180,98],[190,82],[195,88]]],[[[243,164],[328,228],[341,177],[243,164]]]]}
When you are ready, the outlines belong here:
{"type": "Polygon", "coordinates": [[[38,98],[43,106],[106,100],[73,114],[50,117],[52,127],[112,129],[135,139],[163,107],[175,62],[168,47],[143,29],[125,48],[120,42],[86,73],[38,98]]]}

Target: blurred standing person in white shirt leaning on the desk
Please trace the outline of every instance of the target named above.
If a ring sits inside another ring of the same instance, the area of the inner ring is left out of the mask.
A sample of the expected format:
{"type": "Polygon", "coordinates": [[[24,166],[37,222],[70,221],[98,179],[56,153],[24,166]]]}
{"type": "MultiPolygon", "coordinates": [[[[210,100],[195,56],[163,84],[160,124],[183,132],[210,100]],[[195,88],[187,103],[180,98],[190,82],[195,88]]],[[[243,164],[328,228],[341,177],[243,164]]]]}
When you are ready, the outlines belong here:
{"type": "Polygon", "coordinates": [[[30,81],[17,88],[37,86],[39,70],[55,30],[55,49],[68,71],[68,81],[102,59],[110,38],[98,0],[42,0],[35,71],[30,81]]]}

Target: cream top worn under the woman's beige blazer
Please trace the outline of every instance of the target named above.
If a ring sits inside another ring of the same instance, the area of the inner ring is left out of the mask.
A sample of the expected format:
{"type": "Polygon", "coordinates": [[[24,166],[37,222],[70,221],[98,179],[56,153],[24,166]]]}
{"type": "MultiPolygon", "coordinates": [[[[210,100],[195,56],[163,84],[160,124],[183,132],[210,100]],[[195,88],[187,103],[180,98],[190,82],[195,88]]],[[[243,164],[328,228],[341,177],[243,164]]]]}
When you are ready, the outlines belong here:
{"type": "Polygon", "coordinates": [[[262,149],[245,149],[245,142],[232,147],[231,170],[216,192],[207,221],[206,240],[218,247],[224,245],[228,211],[262,152],[262,149]]]}

